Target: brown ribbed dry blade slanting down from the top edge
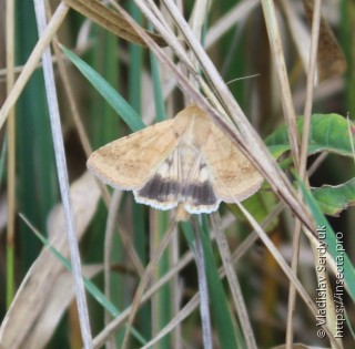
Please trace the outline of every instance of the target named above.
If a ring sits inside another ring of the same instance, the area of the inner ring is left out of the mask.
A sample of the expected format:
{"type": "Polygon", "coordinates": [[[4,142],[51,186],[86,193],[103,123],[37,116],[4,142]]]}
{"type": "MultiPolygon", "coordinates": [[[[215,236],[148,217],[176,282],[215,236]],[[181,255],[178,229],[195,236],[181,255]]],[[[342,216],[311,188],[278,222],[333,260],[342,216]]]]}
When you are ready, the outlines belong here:
{"type": "MultiPolygon", "coordinates": [[[[125,19],[101,2],[95,0],[64,0],[68,6],[97,22],[99,25],[108,29],[119,38],[126,41],[145,45],[145,42],[135,33],[134,29],[125,19]]],[[[161,47],[166,47],[166,42],[159,35],[146,31],[146,33],[161,47]]]]}

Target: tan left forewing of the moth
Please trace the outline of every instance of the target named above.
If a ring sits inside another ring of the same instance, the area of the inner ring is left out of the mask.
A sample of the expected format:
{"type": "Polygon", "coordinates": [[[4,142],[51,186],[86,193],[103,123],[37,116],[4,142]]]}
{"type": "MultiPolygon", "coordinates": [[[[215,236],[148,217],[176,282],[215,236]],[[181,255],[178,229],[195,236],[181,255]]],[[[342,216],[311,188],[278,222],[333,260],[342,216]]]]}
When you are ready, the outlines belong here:
{"type": "Polygon", "coordinates": [[[139,189],[175,148],[178,137],[172,125],[173,120],[163,121],[113,141],[93,152],[87,165],[114,188],[139,189]]]}

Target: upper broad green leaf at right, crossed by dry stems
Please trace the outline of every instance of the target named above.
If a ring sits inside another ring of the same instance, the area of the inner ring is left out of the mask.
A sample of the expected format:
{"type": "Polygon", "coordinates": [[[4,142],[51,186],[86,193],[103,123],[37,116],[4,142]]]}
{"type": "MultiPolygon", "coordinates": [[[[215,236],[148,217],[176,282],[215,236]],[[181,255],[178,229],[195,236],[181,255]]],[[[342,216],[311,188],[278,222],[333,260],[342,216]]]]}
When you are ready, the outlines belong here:
{"type": "MultiPolygon", "coordinates": [[[[303,130],[304,117],[297,117],[298,134],[303,130]]],[[[331,152],[353,156],[347,120],[338,114],[314,114],[311,120],[308,154],[331,152]]],[[[290,151],[286,126],[283,125],[266,140],[270,152],[277,158],[290,151]]]]}

